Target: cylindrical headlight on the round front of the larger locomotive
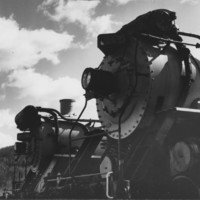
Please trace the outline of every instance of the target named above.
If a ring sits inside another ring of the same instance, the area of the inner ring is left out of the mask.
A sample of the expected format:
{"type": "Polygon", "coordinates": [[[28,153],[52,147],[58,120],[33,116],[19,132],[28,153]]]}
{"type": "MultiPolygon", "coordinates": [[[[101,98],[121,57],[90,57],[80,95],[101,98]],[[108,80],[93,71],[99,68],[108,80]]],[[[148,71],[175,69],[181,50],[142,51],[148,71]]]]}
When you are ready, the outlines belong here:
{"type": "Polygon", "coordinates": [[[94,98],[107,97],[117,92],[117,80],[112,72],[86,68],[82,75],[82,87],[94,98]]]}

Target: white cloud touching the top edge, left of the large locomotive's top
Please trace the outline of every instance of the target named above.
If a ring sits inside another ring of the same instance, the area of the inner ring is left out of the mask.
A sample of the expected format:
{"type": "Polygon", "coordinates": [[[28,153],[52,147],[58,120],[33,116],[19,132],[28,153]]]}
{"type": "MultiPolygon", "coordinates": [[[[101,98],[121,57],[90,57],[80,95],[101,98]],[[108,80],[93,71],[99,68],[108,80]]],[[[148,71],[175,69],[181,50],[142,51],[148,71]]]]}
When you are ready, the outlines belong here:
{"type": "MultiPolygon", "coordinates": [[[[127,0],[126,0],[127,1],[127,0]]],[[[95,16],[95,9],[100,1],[64,1],[45,0],[39,7],[51,20],[80,25],[90,36],[97,36],[100,33],[112,32],[118,22],[112,20],[112,15],[95,16]],[[54,12],[50,12],[50,8],[54,12]]]]}

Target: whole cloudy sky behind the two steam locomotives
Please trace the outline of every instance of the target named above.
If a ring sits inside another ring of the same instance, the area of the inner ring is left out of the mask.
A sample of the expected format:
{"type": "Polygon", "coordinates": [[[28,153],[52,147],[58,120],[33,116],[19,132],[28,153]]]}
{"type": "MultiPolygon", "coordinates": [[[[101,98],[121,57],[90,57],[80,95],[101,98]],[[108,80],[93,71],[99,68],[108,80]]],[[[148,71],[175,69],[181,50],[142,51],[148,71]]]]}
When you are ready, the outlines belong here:
{"type": "MultiPolygon", "coordinates": [[[[200,34],[198,0],[0,0],[0,148],[14,144],[14,117],[26,105],[59,109],[60,99],[73,98],[78,115],[82,72],[103,58],[97,35],[158,8],[176,11],[182,31],[200,34]]],[[[91,117],[94,101],[84,115],[91,117]]]]}

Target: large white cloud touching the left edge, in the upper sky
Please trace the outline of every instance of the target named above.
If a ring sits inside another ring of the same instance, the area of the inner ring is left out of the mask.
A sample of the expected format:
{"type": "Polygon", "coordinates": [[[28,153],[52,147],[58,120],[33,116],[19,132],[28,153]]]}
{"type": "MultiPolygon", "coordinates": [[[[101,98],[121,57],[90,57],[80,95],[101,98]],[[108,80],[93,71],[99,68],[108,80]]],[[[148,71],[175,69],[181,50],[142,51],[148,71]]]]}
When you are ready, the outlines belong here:
{"type": "Polygon", "coordinates": [[[58,53],[68,49],[73,36],[53,30],[27,30],[13,19],[0,18],[0,70],[32,67],[41,59],[59,63],[58,53]]]}

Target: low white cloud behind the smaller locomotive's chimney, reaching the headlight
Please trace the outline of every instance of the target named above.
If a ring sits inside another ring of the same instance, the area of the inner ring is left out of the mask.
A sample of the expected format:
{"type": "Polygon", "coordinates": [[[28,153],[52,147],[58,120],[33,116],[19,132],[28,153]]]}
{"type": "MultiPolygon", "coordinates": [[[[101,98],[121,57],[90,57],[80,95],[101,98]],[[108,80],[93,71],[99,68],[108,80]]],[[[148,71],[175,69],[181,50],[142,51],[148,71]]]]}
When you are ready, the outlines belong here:
{"type": "MultiPolygon", "coordinates": [[[[39,102],[39,105],[35,106],[51,107],[59,110],[60,99],[74,99],[72,113],[76,115],[79,115],[84,106],[85,98],[83,94],[85,91],[77,79],[68,76],[52,79],[47,75],[35,72],[34,69],[15,70],[9,75],[8,79],[9,83],[5,84],[5,87],[20,89],[19,98],[30,97],[32,102],[34,100],[39,102]]],[[[83,117],[97,118],[94,100],[90,101],[83,117]]]]}

